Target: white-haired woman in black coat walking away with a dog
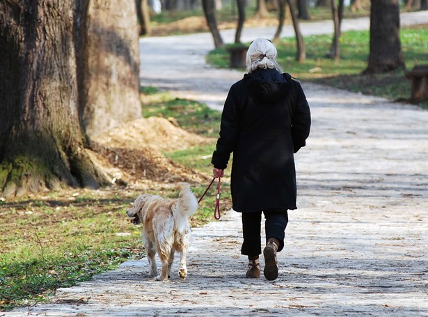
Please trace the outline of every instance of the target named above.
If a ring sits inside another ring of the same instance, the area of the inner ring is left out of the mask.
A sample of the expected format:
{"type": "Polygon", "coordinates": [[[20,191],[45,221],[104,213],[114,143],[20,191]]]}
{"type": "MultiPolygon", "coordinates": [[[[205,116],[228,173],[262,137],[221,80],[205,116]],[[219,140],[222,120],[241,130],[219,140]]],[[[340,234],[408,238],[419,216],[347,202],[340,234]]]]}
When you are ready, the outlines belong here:
{"type": "Polygon", "coordinates": [[[299,82],[282,73],[271,41],[257,38],[246,55],[247,74],[232,85],[212,155],[215,178],[233,153],[232,208],[241,212],[247,277],[260,277],[261,220],[265,218],[264,277],[278,277],[287,210],[296,209],[294,153],[306,145],[310,109],[299,82]]]}

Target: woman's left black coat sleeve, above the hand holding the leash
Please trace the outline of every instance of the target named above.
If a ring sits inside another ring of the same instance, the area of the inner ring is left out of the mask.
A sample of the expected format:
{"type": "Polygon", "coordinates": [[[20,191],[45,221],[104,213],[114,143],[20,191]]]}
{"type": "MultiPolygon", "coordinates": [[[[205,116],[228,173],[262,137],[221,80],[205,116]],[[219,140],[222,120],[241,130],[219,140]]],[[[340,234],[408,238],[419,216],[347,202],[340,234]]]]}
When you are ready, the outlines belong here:
{"type": "Polygon", "coordinates": [[[211,160],[217,169],[228,167],[230,153],[235,149],[239,137],[240,118],[235,90],[236,84],[230,88],[221,114],[220,137],[211,160]]]}

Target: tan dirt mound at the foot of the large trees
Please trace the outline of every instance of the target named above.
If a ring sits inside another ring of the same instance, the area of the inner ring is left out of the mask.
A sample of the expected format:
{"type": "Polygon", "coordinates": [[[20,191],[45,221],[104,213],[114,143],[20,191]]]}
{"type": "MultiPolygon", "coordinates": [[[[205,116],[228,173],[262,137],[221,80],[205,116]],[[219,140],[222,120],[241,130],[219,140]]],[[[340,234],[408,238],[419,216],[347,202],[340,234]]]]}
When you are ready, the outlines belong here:
{"type": "Polygon", "coordinates": [[[141,118],[93,137],[93,161],[112,183],[189,183],[206,176],[169,160],[162,151],[206,144],[165,118],[141,118]]]}

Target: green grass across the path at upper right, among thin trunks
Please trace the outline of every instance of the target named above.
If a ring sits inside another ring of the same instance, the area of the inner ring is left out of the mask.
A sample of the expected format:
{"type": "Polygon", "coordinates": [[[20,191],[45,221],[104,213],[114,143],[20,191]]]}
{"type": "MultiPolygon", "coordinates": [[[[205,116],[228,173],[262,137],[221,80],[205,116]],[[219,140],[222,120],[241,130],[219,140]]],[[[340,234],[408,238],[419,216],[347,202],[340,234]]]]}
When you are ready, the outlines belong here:
{"type": "MultiPolygon", "coordinates": [[[[404,27],[400,34],[406,69],[409,70],[420,63],[427,63],[427,24],[404,27]]],[[[306,36],[304,38],[306,61],[298,63],[294,60],[296,40],[284,38],[276,45],[278,63],[285,72],[290,72],[294,77],[304,81],[378,95],[390,100],[408,100],[411,93],[410,81],[404,76],[405,70],[381,75],[361,75],[361,72],[367,67],[369,40],[368,31],[342,33],[340,38],[341,59],[335,62],[325,57],[331,46],[331,36],[306,36]]],[[[207,56],[207,61],[216,67],[228,68],[228,52],[225,48],[214,49],[207,56]]],[[[428,102],[420,102],[419,105],[428,108],[428,102]]]]}

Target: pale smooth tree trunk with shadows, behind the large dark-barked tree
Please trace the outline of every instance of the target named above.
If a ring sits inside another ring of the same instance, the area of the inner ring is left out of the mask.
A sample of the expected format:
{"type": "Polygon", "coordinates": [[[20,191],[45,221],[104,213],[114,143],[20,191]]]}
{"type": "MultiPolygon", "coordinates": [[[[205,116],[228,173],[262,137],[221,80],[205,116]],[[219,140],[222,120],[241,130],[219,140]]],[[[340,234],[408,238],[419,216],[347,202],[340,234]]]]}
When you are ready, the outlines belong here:
{"type": "MultiPolygon", "coordinates": [[[[146,0],[143,0],[146,1],[146,0]]],[[[141,117],[138,27],[132,0],[89,1],[84,130],[99,134],[141,117]],[[118,10],[120,8],[120,10],[118,10]]]]}

